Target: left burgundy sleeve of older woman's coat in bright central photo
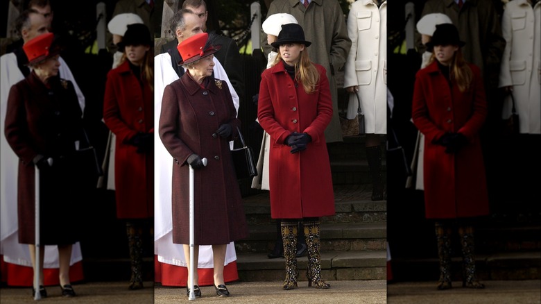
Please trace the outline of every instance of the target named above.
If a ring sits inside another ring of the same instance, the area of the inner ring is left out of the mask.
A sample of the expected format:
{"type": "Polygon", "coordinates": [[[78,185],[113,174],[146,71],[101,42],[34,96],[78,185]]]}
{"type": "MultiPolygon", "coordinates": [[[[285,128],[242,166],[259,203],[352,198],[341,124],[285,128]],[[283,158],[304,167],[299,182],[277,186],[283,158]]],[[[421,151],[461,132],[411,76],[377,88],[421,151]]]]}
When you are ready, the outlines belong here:
{"type": "Polygon", "coordinates": [[[162,110],[159,121],[159,135],[165,149],[175,158],[181,166],[186,164],[188,156],[193,154],[189,147],[180,139],[180,108],[178,108],[178,96],[172,85],[167,85],[162,99],[162,110]]]}

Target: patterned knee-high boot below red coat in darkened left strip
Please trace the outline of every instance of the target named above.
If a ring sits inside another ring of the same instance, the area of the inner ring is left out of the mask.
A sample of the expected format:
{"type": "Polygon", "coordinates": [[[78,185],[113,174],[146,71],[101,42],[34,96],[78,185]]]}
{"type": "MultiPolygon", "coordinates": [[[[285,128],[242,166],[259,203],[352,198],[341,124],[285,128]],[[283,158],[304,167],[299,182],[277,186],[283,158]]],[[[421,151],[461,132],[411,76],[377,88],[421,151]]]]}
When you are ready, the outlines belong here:
{"type": "Polygon", "coordinates": [[[132,277],[130,278],[129,289],[143,288],[143,241],[142,228],[134,223],[126,223],[126,233],[128,234],[128,246],[130,248],[130,260],[132,267],[132,277]]]}

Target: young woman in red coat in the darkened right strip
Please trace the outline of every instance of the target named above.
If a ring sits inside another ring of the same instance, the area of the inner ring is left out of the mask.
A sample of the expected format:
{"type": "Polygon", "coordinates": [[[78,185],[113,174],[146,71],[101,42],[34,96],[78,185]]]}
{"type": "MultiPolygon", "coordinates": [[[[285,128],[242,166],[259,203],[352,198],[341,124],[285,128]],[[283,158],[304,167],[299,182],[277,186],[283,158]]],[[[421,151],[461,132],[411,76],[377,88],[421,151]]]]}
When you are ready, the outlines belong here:
{"type": "Polygon", "coordinates": [[[481,71],[465,62],[464,42],[453,24],[436,26],[427,47],[431,63],[416,75],[413,123],[425,136],[424,203],[436,221],[440,280],[451,285],[452,227],[458,226],[463,253],[463,287],[484,288],[475,275],[474,217],[488,215],[488,194],[479,130],[487,108],[481,71]]]}

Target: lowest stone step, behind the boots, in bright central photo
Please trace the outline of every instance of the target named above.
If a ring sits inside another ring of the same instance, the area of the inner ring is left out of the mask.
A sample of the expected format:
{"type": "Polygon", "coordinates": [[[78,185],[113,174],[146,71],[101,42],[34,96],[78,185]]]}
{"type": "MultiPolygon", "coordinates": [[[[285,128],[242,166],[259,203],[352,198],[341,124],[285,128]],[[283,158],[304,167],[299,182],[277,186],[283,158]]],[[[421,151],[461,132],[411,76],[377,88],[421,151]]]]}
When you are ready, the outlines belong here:
{"type": "MultiPolygon", "coordinates": [[[[308,258],[298,258],[299,280],[306,281],[308,258]]],[[[283,258],[269,259],[266,253],[237,253],[239,279],[247,282],[277,281],[285,277],[283,258]]],[[[321,276],[332,280],[384,280],[386,251],[321,251],[321,276]]]]}

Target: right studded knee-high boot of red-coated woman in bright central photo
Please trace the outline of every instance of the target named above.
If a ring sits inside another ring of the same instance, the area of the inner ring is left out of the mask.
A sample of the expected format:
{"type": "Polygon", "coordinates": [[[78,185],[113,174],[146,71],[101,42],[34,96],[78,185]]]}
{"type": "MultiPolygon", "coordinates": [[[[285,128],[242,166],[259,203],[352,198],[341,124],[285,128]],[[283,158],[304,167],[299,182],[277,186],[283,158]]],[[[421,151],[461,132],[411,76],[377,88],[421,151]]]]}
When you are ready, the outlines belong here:
{"type": "Polygon", "coordinates": [[[308,267],[306,276],[308,278],[308,286],[314,283],[314,287],[326,289],[331,287],[321,278],[321,255],[320,255],[320,238],[319,238],[319,221],[303,222],[304,237],[308,246],[308,267]]]}

